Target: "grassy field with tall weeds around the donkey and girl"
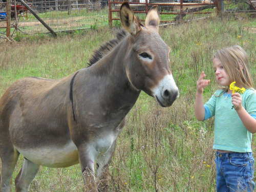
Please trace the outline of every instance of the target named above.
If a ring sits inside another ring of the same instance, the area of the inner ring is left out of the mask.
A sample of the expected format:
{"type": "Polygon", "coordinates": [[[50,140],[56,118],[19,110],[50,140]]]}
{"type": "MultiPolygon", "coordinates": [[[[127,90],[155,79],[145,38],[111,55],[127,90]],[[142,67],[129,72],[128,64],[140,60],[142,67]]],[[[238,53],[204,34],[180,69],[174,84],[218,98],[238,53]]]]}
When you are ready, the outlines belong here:
{"type": "MultiPolygon", "coordinates": [[[[212,55],[223,47],[242,46],[249,55],[256,83],[256,22],[248,15],[210,17],[193,23],[160,27],[172,49],[170,62],[180,97],[170,108],[141,93],[118,137],[109,172],[110,191],[215,191],[214,119],[194,116],[196,81],[204,71],[211,80],[205,101],[217,89],[212,55]]],[[[23,37],[0,47],[0,95],[19,78],[62,78],[87,66],[102,42],[114,38],[110,29],[72,35],[23,37]]],[[[252,148],[256,157],[256,140],[252,148]]],[[[13,178],[23,163],[20,156],[13,178]]],[[[14,190],[14,179],[12,182],[14,190]]],[[[41,167],[30,191],[83,191],[79,165],[41,167]]]]}

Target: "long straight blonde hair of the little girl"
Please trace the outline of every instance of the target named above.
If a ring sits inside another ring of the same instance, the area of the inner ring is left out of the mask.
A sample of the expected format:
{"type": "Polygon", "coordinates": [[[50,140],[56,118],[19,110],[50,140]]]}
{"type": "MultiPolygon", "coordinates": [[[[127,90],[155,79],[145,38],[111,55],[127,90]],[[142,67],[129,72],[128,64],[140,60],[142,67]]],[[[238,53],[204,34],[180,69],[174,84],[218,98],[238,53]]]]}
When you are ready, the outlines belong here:
{"type": "Polygon", "coordinates": [[[240,46],[221,49],[214,57],[220,60],[231,82],[236,81],[240,88],[254,90],[246,51],[240,46]]]}

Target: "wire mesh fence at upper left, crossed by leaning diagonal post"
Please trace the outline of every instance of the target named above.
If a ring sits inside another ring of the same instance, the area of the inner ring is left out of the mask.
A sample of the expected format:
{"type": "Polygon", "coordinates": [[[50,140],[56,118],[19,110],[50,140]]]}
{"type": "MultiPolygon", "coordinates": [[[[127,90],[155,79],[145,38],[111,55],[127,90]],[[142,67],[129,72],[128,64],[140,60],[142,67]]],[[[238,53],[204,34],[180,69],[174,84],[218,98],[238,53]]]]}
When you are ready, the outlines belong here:
{"type": "MultiPolygon", "coordinates": [[[[26,2],[29,7],[55,32],[95,28],[108,25],[108,2],[90,0],[32,0],[26,2]]],[[[17,23],[15,23],[14,4],[12,2],[11,25],[17,24],[19,32],[25,34],[47,33],[48,29],[26,9],[16,2],[17,23]]],[[[6,23],[0,23],[4,27],[6,23]]],[[[12,29],[14,30],[15,27],[12,29]]],[[[15,33],[14,33],[15,34],[15,33]]]]}

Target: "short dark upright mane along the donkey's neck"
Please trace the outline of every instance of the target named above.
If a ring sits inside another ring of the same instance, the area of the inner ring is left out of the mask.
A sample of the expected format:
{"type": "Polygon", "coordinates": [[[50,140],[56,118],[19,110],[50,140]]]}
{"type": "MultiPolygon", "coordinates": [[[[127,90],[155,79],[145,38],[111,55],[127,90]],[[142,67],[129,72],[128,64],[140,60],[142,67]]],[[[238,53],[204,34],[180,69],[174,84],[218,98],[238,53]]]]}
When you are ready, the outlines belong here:
{"type": "Polygon", "coordinates": [[[108,54],[114,47],[116,47],[119,42],[127,36],[127,32],[124,29],[121,29],[116,33],[116,38],[112,39],[108,42],[105,42],[104,45],[100,46],[100,48],[94,51],[94,54],[89,59],[89,67],[92,66],[94,63],[99,61],[104,55],[108,54]]]}

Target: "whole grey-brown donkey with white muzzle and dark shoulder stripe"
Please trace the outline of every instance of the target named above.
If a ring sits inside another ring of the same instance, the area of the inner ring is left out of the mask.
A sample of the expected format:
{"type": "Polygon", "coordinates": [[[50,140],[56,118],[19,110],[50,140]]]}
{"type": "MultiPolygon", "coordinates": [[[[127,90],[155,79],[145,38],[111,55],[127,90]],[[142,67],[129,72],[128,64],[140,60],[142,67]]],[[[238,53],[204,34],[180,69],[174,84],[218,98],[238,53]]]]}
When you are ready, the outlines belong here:
{"type": "Polygon", "coordinates": [[[107,190],[108,183],[98,182],[107,175],[116,139],[141,90],[163,107],[179,97],[170,48],[158,33],[158,7],[143,25],[124,2],[120,20],[126,32],[101,46],[89,67],[59,80],[20,79],[0,98],[1,192],[11,190],[19,154],[24,164],[16,191],[29,190],[40,165],[77,163],[89,191],[107,190]]]}

